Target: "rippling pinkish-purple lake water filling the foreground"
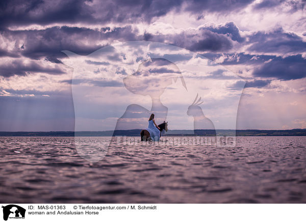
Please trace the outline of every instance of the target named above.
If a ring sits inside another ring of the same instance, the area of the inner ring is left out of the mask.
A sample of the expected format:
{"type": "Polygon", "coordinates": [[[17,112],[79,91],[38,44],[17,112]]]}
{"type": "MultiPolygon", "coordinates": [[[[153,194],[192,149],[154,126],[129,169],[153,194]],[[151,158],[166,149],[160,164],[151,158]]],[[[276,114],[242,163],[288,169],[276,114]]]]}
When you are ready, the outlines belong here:
{"type": "Polygon", "coordinates": [[[0,151],[3,203],[306,203],[305,136],[237,137],[235,148],[115,143],[96,163],[73,137],[0,137],[0,151]]]}

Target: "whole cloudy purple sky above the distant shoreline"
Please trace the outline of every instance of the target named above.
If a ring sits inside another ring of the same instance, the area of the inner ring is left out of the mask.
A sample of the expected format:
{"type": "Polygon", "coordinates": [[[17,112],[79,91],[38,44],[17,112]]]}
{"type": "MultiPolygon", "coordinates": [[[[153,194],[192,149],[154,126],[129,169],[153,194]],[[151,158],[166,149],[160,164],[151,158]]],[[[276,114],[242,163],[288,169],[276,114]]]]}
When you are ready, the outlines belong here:
{"type": "Polygon", "coordinates": [[[305,3],[1,1],[0,131],[306,128],[305,3]]]}

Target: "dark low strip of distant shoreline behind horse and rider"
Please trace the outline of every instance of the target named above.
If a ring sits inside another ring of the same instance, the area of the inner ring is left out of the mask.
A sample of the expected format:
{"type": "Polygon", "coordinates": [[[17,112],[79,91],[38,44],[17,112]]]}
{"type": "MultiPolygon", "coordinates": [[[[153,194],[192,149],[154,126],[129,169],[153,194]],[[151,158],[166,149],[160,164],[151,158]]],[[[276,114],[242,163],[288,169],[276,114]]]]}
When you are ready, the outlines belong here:
{"type": "MultiPolygon", "coordinates": [[[[140,136],[141,129],[108,131],[48,131],[48,132],[7,132],[0,131],[0,136],[140,136]]],[[[306,129],[257,130],[257,129],[219,129],[217,136],[306,136],[306,129]]],[[[213,130],[168,130],[164,136],[213,136],[213,130]]]]}

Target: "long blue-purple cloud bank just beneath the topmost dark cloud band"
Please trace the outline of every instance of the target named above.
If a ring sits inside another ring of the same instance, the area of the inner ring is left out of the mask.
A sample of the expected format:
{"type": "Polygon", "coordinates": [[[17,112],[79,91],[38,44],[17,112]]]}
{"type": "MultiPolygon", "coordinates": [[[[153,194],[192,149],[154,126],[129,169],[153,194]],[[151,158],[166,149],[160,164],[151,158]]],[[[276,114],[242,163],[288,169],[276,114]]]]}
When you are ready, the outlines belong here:
{"type": "MultiPolygon", "coordinates": [[[[17,56],[34,60],[44,58],[52,63],[61,63],[59,59],[65,57],[62,50],[73,51],[84,56],[115,41],[156,41],[170,43],[196,52],[226,52],[233,47],[233,41],[244,41],[238,27],[233,22],[216,27],[199,26],[197,29],[186,29],[173,34],[141,33],[131,25],[101,29],[54,26],[43,30],[5,30],[3,37],[7,42],[16,42],[13,51],[17,56]]],[[[0,56],[1,54],[0,51],[0,56]]],[[[116,57],[110,58],[110,60],[121,60],[122,55],[114,56],[116,57]]],[[[186,56],[180,57],[171,54],[167,56],[173,57],[176,61],[189,59],[186,56]]]]}

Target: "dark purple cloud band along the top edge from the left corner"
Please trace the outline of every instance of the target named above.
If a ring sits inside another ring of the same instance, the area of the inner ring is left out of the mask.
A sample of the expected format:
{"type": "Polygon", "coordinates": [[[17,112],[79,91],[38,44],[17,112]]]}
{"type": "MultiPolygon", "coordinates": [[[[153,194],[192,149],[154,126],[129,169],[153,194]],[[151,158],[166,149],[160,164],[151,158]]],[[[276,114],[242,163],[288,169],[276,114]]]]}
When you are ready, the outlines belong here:
{"type": "Polygon", "coordinates": [[[253,0],[115,0],[115,1],[22,1],[3,0],[0,3],[0,27],[10,25],[106,22],[150,22],[152,18],[180,11],[190,13],[237,11],[253,0]]]}

